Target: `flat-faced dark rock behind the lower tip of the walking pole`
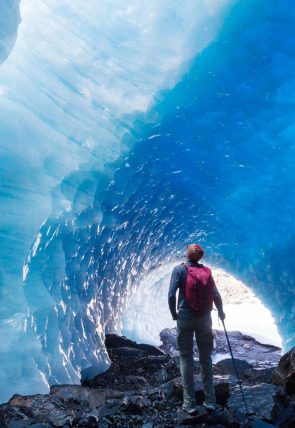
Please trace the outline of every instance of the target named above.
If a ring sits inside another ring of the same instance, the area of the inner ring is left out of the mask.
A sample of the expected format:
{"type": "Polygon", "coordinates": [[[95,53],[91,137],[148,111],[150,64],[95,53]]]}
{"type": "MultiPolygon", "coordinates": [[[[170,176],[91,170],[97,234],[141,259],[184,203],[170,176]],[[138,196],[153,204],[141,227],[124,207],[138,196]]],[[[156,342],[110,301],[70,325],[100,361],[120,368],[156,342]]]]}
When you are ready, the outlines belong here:
{"type": "MultiPolygon", "coordinates": [[[[271,410],[274,406],[274,397],[278,390],[275,385],[258,384],[243,386],[243,393],[247,408],[250,413],[256,413],[258,417],[271,420],[271,410]]],[[[228,407],[246,412],[244,401],[239,386],[236,386],[228,399],[228,407]]]]}

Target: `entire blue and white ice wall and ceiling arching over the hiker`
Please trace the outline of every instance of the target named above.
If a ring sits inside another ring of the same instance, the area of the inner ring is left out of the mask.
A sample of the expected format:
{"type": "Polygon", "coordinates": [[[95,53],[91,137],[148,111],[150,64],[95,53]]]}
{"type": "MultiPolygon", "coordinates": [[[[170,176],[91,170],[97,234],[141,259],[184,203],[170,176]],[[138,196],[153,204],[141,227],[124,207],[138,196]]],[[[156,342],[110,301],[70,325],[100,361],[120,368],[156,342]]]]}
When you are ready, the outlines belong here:
{"type": "Polygon", "coordinates": [[[2,401],[104,370],[191,241],[295,344],[294,6],[0,0],[2,401]]]}

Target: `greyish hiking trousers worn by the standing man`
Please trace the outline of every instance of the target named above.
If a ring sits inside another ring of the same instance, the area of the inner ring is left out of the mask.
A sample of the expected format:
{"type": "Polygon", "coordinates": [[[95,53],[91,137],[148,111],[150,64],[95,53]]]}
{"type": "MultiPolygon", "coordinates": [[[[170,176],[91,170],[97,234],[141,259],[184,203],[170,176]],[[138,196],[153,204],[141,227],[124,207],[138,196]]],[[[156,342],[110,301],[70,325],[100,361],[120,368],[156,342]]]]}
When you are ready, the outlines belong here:
{"type": "Polygon", "coordinates": [[[213,349],[212,320],[211,314],[194,319],[178,317],[176,346],[180,353],[180,372],[183,382],[183,404],[185,407],[196,405],[194,388],[194,359],[193,359],[193,337],[199,350],[199,361],[205,401],[208,404],[216,404],[215,391],[213,387],[213,372],[211,352],[213,349]]]}

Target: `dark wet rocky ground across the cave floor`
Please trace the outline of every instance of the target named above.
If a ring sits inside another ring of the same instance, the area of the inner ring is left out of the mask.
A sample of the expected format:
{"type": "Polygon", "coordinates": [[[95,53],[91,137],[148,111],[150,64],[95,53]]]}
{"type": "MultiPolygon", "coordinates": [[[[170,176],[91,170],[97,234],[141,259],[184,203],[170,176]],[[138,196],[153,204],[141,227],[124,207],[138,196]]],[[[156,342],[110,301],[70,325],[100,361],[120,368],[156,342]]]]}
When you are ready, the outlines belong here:
{"type": "MultiPolygon", "coordinates": [[[[228,358],[214,365],[218,409],[208,412],[202,406],[196,354],[198,412],[189,416],[182,411],[175,331],[166,329],[161,333],[160,348],[107,335],[106,347],[112,360],[107,372],[82,385],[53,386],[47,395],[14,395],[0,406],[0,428],[295,427],[295,348],[281,358],[279,348],[262,345],[239,332],[229,335],[247,410],[228,358]]],[[[216,333],[215,352],[228,352],[222,331],[216,333]]]]}

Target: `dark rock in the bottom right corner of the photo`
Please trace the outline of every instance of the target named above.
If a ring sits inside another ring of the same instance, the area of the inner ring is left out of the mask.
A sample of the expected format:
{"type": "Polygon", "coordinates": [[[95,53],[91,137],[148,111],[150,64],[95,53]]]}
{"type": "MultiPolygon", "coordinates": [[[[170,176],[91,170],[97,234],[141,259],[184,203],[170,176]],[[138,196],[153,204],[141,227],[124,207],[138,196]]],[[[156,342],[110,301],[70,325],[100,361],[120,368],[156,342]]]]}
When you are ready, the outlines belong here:
{"type": "Polygon", "coordinates": [[[271,411],[272,422],[278,427],[295,427],[295,412],[282,388],[278,389],[274,402],[271,411]]]}

